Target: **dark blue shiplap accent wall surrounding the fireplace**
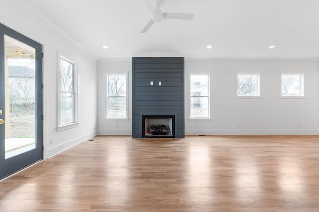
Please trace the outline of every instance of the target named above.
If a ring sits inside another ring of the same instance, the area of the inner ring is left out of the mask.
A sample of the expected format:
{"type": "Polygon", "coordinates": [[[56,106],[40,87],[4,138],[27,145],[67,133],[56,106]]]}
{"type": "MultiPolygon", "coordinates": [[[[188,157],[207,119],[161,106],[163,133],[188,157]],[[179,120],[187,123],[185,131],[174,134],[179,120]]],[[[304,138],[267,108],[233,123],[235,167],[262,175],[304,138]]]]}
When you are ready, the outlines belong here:
{"type": "Polygon", "coordinates": [[[142,115],[153,113],[177,114],[175,137],[184,138],[184,110],[184,58],[132,58],[132,137],[142,138],[142,115]]]}

